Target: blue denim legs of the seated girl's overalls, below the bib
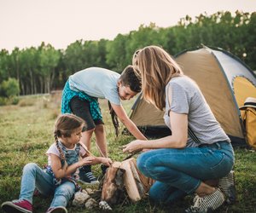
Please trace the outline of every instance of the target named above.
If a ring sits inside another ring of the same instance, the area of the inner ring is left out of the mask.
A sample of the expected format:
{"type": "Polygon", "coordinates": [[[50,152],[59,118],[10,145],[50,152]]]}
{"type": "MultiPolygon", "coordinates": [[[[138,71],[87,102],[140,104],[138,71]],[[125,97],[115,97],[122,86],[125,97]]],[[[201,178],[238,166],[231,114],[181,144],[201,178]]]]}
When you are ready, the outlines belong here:
{"type": "Polygon", "coordinates": [[[73,182],[65,181],[56,186],[51,175],[42,170],[37,164],[29,163],[23,169],[19,199],[26,199],[32,203],[35,187],[45,196],[54,194],[50,207],[66,207],[67,202],[75,193],[73,182]]]}

